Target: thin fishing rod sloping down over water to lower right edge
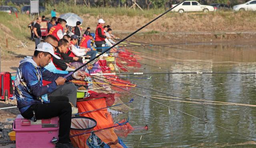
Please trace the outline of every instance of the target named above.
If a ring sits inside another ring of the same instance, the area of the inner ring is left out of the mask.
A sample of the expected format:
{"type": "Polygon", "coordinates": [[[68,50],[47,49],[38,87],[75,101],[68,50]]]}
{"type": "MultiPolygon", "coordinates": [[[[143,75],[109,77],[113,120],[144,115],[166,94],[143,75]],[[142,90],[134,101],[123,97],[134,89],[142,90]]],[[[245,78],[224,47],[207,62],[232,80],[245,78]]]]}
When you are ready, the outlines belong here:
{"type": "MultiPolygon", "coordinates": [[[[96,79],[96,80],[99,80],[99,81],[101,81],[101,82],[108,83],[108,82],[105,82],[105,81],[100,80],[100,79],[98,79],[98,78],[95,78],[95,77],[93,77],[93,78],[96,79]]],[[[111,83],[108,83],[108,84],[109,84],[109,85],[112,85],[111,83]]],[[[112,85],[112,86],[114,86],[114,85],[112,85]]],[[[247,139],[252,140],[252,141],[256,141],[256,140],[253,140],[252,138],[249,138],[249,137],[244,136],[244,135],[242,135],[242,134],[239,134],[239,133],[237,133],[237,132],[233,132],[232,130],[228,130],[227,128],[223,128],[222,126],[218,126],[217,124],[208,122],[208,121],[206,121],[206,120],[203,120],[203,119],[201,119],[201,118],[198,118],[198,117],[193,116],[193,115],[191,115],[191,114],[188,114],[188,113],[186,113],[186,112],[182,112],[181,110],[177,110],[177,109],[175,109],[175,108],[172,108],[172,107],[170,107],[170,106],[168,106],[168,105],[165,105],[165,104],[162,104],[162,103],[160,103],[160,102],[157,102],[157,101],[155,101],[155,100],[152,100],[152,99],[147,98],[147,97],[145,97],[145,96],[142,96],[142,95],[140,95],[140,94],[136,94],[135,92],[131,92],[130,90],[126,90],[126,89],[121,88],[121,87],[118,87],[118,86],[114,86],[114,87],[120,88],[120,89],[122,89],[122,90],[125,90],[126,92],[130,92],[131,94],[134,94],[134,95],[136,95],[136,96],[140,96],[140,97],[142,97],[142,98],[145,98],[145,99],[147,99],[147,100],[150,100],[150,101],[155,102],[155,103],[157,103],[157,104],[160,104],[160,105],[162,105],[162,106],[166,106],[166,107],[168,107],[168,108],[171,108],[172,110],[176,110],[177,112],[180,112],[180,113],[182,113],[182,114],[186,114],[186,115],[188,115],[188,116],[190,116],[190,117],[192,117],[192,118],[196,118],[196,119],[198,119],[198,120],[200,120],[200,121],[206,122],[206,123],[208,123],[208,124],[211,124],[211,125],[213,125],[213,126],[216,126],[216,127],[218,127],[218,128],[221,128],[221,129],[226,130],[226,131],[228,131],[228,132],[232,132],[233,134],[242,136],[242,137],[247,138],[247,139]]]]}

